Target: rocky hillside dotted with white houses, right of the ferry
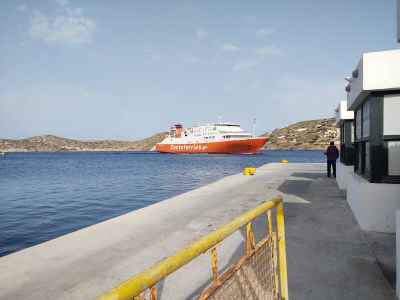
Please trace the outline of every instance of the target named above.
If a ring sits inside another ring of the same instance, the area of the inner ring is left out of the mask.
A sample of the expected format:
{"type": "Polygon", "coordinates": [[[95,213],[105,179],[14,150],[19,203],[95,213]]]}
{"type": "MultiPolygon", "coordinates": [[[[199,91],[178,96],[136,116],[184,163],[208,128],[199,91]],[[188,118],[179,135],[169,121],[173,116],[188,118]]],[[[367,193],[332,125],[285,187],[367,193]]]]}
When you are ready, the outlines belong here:
{"type": "Polygon", "coordinates": [[[293,122],[292,124],[266,132],[270,140],[261,148],[265,150],[325,150],[329,141],[340,148],[340,127],[335,119],[325,118],[293,122]]]}

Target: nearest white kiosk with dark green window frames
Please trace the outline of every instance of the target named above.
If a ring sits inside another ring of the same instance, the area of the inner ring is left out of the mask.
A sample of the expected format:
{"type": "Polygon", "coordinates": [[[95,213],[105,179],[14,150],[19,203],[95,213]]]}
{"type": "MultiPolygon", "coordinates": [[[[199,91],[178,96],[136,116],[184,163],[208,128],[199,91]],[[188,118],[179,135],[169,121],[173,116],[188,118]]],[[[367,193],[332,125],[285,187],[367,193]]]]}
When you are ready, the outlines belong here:
{"type": "Polygon", "coordinates": [[[363,230],[395,232],[400,209],[400,50],[364,53],[346,86],[354,110],[347,201],[363,230]]]}

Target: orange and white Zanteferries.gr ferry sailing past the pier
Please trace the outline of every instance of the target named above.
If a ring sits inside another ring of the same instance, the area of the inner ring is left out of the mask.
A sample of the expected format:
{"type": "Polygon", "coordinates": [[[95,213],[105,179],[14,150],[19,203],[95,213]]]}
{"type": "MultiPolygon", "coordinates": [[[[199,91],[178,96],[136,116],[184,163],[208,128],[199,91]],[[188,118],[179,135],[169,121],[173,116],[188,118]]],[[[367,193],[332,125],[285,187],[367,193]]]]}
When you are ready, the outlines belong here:
{"type": "Polygon", "coordinates": [[[219,123],[197,124],[186,130],[181,124],[170,127],[164,140],[155,144],[155,150],[162,153],[257,154],[269,140],[269,137],[255,137],[239,124],[221,122],[221,117],[218,118],[219,123]]]}

